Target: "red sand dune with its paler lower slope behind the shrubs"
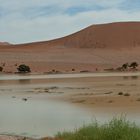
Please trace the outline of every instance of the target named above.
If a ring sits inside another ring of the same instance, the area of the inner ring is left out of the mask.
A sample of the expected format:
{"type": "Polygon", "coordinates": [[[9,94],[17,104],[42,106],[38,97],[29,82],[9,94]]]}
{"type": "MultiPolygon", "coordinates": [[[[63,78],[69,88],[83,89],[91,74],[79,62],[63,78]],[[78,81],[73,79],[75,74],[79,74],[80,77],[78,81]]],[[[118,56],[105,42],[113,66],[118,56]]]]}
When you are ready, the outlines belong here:
{"type": "Polygon", "coordinates": [[[1,45],[0,62],[5,71],[16,71],[15,63],[26,63],[32,71],[68,71],[118,67],[140,62],[140,22],[93,25],[72,35],[44,42],[1,45]]]}

